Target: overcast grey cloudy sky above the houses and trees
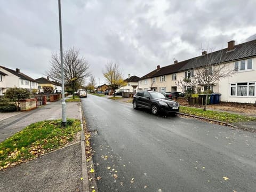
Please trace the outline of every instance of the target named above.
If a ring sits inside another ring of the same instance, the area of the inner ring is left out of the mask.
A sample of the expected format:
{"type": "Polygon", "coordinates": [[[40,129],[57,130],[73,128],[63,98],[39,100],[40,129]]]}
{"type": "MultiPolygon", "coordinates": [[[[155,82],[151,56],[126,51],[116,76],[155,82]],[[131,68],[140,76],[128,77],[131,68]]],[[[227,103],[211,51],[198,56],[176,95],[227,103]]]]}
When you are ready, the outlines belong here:
{"type": "MultiPolygon", "coordinates": [[[[256,38],[255,0],[62,0],[63,49],[75,47],[104,82],[105,65],[124,78],[256,38]]],[[[60,50],[57,0],[0,0],[0,65],[45,77],[60,50]]]]}

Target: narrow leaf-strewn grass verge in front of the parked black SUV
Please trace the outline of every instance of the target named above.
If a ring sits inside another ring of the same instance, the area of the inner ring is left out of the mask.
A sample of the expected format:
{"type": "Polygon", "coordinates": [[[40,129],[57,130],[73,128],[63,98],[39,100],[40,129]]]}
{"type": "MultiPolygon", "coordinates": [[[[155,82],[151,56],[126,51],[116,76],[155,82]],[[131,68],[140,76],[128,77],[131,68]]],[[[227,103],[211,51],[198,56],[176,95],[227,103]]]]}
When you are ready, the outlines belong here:
{"type": "Polygon", "coordinates": [[[193,108],[193,107],[184,107],[180,106],[180,113],[185,113],[189,115],[195,115],[204,118],[210,118],[217,121],[222,121],[226,123],[236,123],[236,122],[243,122],[243,121],[256,121],[255,117],[231,114],[227,112],[220,112],[220,111],[213,111],[213,110],[206,110],[193,108]]]}

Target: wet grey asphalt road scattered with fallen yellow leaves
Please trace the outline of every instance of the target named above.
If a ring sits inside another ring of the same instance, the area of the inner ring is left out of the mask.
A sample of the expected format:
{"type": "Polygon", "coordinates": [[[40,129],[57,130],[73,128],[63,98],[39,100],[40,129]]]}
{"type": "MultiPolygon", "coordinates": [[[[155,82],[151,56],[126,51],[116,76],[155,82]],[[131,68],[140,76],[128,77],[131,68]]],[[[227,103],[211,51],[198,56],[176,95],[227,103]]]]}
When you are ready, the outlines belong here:
{"type": "Polygon", "coordinates": [[[99,191],[255,191],[256,134],[82,99],[99,191]]]}

